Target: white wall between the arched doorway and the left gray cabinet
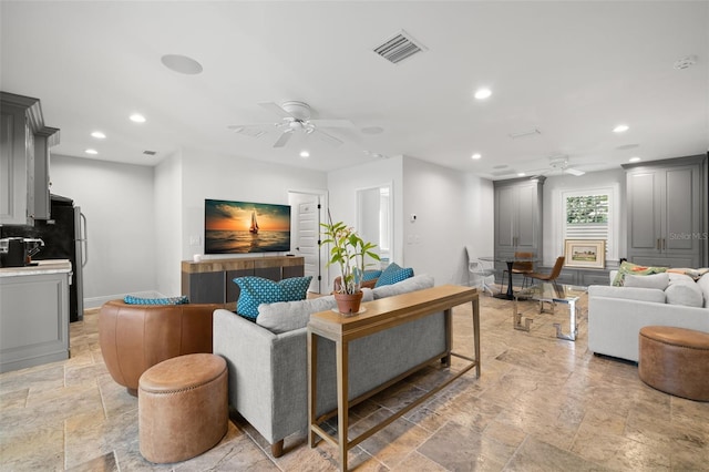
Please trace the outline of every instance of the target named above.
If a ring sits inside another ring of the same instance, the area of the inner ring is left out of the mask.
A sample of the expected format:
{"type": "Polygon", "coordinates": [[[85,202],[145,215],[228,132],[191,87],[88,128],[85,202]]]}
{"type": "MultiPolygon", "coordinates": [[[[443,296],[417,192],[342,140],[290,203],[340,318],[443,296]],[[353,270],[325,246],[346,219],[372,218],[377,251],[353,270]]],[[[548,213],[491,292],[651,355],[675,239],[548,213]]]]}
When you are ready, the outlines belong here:
{"type": "Polygon", "coordinates": [[[492,182],[411,157],[403,164],[405,265],[436,285],[467,284],[465,246],[493,254],[492,182]]]}

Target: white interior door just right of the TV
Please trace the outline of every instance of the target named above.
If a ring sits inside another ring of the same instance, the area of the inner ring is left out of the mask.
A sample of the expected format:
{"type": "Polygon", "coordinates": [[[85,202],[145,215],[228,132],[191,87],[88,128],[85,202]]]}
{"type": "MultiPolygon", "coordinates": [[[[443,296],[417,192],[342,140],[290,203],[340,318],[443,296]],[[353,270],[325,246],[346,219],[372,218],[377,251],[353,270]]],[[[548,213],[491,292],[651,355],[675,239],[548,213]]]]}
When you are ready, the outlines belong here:
{"type": "Polygon", "coordinates": [[[320,195],[290,192],[288,202],[292,217],[294,253],[305,259],[305,275],[312,276],[308,291],[321,291],[320,195]]]}

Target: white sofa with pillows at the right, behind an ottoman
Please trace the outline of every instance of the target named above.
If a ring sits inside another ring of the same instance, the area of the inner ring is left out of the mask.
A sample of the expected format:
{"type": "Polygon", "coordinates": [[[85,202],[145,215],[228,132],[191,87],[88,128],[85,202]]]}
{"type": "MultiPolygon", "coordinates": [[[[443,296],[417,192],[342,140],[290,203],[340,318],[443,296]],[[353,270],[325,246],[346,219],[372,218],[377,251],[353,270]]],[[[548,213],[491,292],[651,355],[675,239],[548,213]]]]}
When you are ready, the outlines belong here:
{"type": "MultiPolygon", "coordinates": [[[[612,271],[612,283],[615,276],[612,271]]],[[[625,287],[588,287],[590,351],[637,362],[638,334],[644,326],[709,332],[709,273],[697,281],[681,274],[634,277],[638,278],[625,287]]]]}

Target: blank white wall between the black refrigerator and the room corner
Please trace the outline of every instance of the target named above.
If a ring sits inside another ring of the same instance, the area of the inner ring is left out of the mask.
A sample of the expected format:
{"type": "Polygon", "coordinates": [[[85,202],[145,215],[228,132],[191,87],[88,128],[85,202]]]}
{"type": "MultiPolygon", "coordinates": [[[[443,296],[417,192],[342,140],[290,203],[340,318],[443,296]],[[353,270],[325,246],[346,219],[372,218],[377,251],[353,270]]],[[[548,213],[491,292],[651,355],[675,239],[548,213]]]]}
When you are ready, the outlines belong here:
{"type": "Polygon", "coordinates": [[[153,168],[52,155],[52,193],[88,220],[86,308],[156,288],[153,168]]]}

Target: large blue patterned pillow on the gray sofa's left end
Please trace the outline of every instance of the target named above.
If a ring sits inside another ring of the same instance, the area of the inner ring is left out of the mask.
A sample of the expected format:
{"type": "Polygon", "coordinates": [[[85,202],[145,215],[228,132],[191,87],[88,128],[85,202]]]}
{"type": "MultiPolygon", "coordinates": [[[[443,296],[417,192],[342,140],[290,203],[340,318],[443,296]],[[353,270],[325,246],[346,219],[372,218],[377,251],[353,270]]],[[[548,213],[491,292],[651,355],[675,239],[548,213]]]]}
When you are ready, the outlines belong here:
{"type": "Polygon", "coordinates": [[[234,283],[242,291],[236,311],[246,318],[256,319],[260,304],[305,300],[311,279],[312,276],[285,278],[280,281],[254,276],[237,277],[234,283]]]}

